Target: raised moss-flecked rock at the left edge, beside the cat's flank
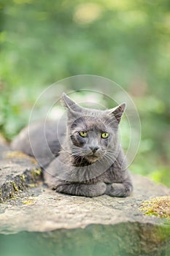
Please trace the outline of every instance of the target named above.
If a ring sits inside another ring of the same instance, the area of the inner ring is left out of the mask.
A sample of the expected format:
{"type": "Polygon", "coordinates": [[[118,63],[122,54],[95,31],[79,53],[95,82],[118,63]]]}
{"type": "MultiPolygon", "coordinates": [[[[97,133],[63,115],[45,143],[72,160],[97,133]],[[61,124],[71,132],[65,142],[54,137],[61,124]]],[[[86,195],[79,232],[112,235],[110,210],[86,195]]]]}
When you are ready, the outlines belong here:
{"type": "Polygon", "coordinates": [[[0,140],[0,203],[19,195],[30,186],[42,181],[42,170],[35,159],[22,152],[10,151],[0,140]]]}

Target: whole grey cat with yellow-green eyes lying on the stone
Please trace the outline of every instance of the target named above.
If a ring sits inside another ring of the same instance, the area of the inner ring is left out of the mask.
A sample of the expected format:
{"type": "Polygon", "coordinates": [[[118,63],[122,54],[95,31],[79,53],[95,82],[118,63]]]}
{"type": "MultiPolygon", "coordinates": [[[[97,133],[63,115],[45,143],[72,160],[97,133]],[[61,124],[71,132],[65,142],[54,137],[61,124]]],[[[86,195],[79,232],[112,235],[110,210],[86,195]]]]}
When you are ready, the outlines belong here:
{"type": "Polygon", "coordinates": [[[45,183],[56,192],[130,195],[133,185],[118,140],[125,103],[112,110],[82,108],[63,94],[63,105],[67,121],[32,124],[29,136],[27,127],[12,148],[35,156],[44,168],[45,183]]]}

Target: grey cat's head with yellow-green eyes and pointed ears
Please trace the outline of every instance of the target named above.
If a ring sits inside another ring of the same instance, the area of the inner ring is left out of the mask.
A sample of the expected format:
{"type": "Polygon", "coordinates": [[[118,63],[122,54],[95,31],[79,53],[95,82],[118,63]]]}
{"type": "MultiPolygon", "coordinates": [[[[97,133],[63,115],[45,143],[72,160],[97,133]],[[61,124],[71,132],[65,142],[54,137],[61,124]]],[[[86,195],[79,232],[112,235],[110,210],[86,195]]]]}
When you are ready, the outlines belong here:
{"type": "Polygon", "coordinates": [[[103,157],[116,157],[118,124],[125,103],[110,110],[82,108],[63,94],[63,105],[67,108],[68,143],[75,158],[91,164],[103,157]]]}

